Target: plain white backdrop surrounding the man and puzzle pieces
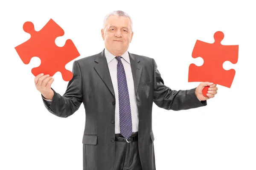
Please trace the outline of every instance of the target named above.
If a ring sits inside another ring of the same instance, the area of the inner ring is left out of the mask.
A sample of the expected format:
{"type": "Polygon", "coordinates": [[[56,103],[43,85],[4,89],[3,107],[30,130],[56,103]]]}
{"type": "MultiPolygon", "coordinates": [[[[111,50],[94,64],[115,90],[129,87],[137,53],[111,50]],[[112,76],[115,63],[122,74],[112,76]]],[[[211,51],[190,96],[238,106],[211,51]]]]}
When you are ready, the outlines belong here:
{"type": "MultiPolygon", "coordinates": [[[[84,106],[67,119],[49,113],[34,85],[34,57],[23,64],[15,47],[29,39],[23,23],[39,31],[50,18],[64,29],[58,46],[71,39],[82,57],[104,48],[103,18],[114,10],[127,12],[134,22],[129,52],[156,60],[165,85],[175,90],[197,87],[188,82],[196,40],[214,42],[215,31],[225,35],[223,45],[239,45],[231,88],[218,85],[218,94],[206,107],[166,111],[153,105],[157,170],[255,170],[256,24],[253,1],[54,1],[5,0],[0,5],[0,169],[81,170],[84,106]],[[167,3],[168,2],[168,3],[167,3]]],[[[72,62],[66,65],[72,70],[72,62]]],[[[64,94],[67,82],[58,72],[52,85],[64,94]]]]}

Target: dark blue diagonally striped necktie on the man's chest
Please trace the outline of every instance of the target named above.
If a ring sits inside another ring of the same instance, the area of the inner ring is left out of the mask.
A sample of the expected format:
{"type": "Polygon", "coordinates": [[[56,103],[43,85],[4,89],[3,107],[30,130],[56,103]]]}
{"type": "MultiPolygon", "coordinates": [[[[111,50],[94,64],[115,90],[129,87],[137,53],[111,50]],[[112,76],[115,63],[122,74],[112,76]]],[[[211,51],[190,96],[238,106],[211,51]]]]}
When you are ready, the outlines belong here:
{"type": "Polygon", "coordinates": [[[131,122],[131,106],[129,92],[126,82],[125,69],[122,65],[120,57],[115,57],[117,63],[117,85],[119,96],[119,119],[120,119],[120,133],[126,139],[131,136],[132,122],[131,122]]]}

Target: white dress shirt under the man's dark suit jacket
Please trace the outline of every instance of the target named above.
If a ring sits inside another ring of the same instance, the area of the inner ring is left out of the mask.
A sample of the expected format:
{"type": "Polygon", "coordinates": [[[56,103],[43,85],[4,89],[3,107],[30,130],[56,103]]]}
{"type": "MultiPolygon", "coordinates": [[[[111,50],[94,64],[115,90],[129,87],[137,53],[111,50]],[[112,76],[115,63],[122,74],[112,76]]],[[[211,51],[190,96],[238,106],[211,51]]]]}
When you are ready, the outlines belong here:
{"type": "MultiPolygon", "coordinates": [[[[113,83],[113,88],[116,96],[116,110],[115,110],[115,133],[120,133],[120,122],[119,122],[119,98],[118,98],[118,85],[117,85],[117,59],[116,56],[111,54],[105,48],[105,56],[108,62],[108,68],[111,76],[111,80],[113,83]]],[[[125,75],[127,80],[130,105],[131,105],[131,119],[132,119],[132,132],[137,132],[139,129],[139,113],[137,108],[137,100],[135,96],[134,90],[134,79],[131,72],[131,63],[128,51],[126,51],[121,58],[122,64],[125,69],[125,75]]],[[[51,103],[52,100],[45,99],[48,104],[51,103]]]]}

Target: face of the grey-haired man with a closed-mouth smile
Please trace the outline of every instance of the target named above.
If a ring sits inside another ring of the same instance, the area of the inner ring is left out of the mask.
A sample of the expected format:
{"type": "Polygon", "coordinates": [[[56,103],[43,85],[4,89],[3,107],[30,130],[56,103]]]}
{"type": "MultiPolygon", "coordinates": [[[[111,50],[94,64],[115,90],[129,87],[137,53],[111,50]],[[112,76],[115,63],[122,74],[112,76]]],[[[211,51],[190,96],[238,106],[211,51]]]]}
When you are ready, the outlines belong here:
{"type": "Polygon", "coordinates": [[[112,15],[108,18],[105,29],[102,29],[106,49],[116,56],[128,50],[132,36],[131,21],[128,17],[112,15]]]}

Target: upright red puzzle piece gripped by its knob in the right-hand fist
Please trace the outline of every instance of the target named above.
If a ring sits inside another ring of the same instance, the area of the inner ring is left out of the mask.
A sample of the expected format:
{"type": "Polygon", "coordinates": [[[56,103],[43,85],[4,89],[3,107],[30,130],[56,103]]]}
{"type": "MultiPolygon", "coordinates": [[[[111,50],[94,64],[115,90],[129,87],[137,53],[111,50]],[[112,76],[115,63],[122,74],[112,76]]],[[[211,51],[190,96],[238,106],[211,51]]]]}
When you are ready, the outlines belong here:
{"type": "MultiPolygon", "coordinates": [[[[200,40],[195,42],[192,57],[203,58],[204,64],[199,67],[195,64],[189,65],[189,82],[213,82],[228,88],[231,87],[236,71],[234,69],[224,70],[222,65],[225,61],[236,64],[239,45],[221,45],[223,38],[223,32],[217,31],[214,34],[215,42],[212,44],[200,40]]],[[[204,88],[204,96],[206,96],[208,88],[209,86],[204,88]]]]}

